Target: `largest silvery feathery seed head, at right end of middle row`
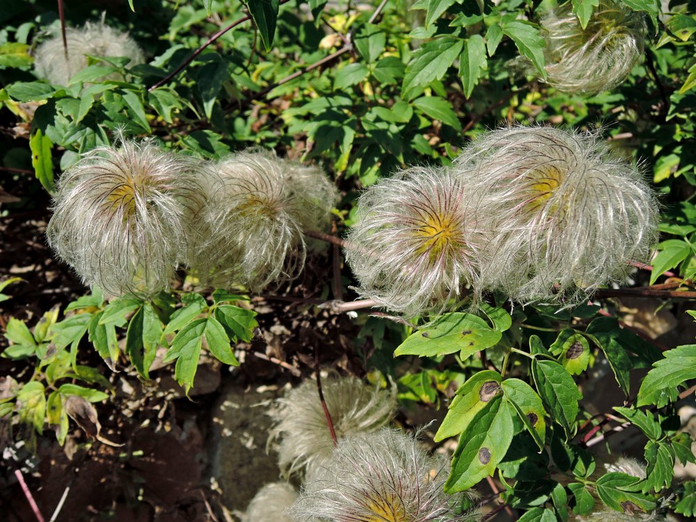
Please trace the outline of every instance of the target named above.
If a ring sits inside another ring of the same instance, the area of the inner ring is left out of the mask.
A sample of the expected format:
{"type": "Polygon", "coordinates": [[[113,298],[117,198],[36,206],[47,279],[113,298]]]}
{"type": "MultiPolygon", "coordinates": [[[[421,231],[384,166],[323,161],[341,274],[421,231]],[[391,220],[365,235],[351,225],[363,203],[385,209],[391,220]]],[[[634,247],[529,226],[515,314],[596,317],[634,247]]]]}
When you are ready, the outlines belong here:
{"type": "Polygon", "coordinates": [[[657,204],[640,171],[593,133],[516,127],[480,136],[454,164],[496,220],[482,287],[521,303],[575,303],[645,260],[657,204]]]}

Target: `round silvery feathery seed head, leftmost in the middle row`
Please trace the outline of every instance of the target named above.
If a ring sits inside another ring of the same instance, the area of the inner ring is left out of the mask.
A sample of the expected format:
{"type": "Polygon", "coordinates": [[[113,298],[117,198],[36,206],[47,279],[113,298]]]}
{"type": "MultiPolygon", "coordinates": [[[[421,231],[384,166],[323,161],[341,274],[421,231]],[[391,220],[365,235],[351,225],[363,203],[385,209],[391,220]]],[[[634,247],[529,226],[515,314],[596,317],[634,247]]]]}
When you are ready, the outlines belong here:
{"type": "Polygon", "coordinates": [[[110,294],[164,290],[195,233],[199,175],[192,160],[151,141],[97,147],[58,182],[49,244],[84,283],[110,294]]]}

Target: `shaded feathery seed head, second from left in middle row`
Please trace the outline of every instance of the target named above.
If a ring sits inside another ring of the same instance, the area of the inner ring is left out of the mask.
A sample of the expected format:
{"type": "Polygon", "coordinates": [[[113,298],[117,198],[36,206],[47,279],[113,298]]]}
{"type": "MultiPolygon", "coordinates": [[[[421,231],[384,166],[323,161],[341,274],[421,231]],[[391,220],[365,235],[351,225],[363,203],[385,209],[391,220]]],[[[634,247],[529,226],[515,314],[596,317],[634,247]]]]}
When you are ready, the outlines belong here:
{"type": "Polygon", "coordinates": [[[204,285],[260,290],[296,276],[305,259],[302,232],[325,228],[335,191],[321,171],[248,150],[219,161],[200,214],[207,242],[189,255],[204,285]]]}

